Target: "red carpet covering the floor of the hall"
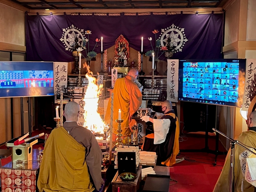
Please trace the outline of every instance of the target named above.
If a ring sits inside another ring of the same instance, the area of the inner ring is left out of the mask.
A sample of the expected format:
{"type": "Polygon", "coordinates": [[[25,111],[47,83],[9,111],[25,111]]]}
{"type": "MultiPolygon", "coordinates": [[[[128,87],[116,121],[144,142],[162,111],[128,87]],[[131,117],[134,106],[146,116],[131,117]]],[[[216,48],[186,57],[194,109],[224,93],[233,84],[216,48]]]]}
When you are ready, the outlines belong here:
{"type": "MultiPolygon", "coordinates": [[[[34,131],[32,135],[37,135],[43,130],[34,131]]],[[[50,131],[50,129],[49,129],[50,131]]],[[[47,130],[47,133],[49,133],[47,130]]],[[[46,131],[44,131],[46,133],[46,131]]],[[[204,148],[204,135],[187,134],[188,138],[180,142],[180,149],[202,149],[204,148]]],[[[34,149],[41,147],[35,144],[34,149]]],[[[215,136],[209,136],[208,146],[215,150],[215,136]]],[[[5,148],[2,146],[0,148],[5,148]]],[[[225,151],[219,143],[219,151],[225,151]]],[[[221,173],[226,155],[218,155],[217,166],[213,166],[215,155],[209,153],[181,153],[180,157],[185,160],[170,167],[170,177],[175,181],[170,182],[170,192],[212,192],[221,173]],[[174,185],[171,185],[174,184],[174,185]]],[[[10,162],[11,158],[2,159],[2,165],[10,162]]]]}

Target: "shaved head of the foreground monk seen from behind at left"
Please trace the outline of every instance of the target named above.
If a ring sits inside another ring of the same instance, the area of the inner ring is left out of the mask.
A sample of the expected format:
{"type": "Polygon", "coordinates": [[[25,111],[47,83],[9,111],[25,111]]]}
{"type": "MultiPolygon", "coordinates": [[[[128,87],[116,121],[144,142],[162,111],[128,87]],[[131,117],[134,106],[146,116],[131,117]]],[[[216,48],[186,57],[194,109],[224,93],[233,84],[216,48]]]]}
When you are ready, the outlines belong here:
{"type": "Polygon", "coordinates": [[[64,116],[67,121],[78,121],[80,107],[78,103],[74,101],[69,101],[65,105],[64,116]]]}

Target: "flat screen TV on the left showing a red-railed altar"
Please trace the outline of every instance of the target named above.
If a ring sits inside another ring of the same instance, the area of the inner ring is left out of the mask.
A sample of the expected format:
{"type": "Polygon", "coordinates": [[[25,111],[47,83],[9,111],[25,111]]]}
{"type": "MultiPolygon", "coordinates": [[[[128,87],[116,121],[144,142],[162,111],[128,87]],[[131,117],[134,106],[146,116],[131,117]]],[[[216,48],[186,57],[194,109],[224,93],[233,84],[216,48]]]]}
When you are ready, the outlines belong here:
{"type": "Polygon", "coordinates": [[[0,61],[0,97],[54,95],[53,62],[0,61]]]}

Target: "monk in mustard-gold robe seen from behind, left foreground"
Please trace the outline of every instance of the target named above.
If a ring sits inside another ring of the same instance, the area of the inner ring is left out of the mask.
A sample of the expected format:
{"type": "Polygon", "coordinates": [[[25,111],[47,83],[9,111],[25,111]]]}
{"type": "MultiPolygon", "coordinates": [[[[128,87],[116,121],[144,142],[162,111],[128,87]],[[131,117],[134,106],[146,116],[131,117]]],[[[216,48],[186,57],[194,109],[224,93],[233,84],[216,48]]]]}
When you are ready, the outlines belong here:
{"type": "Polygon", "coordinates": [[[44,148],[40,192],[94,192],[101,188],[102,151],[89,129],[78,126],[79,105],[68,102],[63,127],[53,129],[44,148]]]}

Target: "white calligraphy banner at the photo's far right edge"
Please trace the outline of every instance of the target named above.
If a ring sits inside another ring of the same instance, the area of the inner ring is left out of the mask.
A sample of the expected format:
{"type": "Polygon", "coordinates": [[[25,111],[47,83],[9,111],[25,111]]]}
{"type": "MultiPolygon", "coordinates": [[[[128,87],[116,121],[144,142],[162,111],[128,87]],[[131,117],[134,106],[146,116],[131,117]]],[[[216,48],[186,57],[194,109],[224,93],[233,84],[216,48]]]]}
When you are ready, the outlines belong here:
{"type": "Polygon", "coordinates": [[[248,111],[249,105],[253,99],[256,89],[256,59],[246,60],[246,73],[242,110],[248,111]]]}

